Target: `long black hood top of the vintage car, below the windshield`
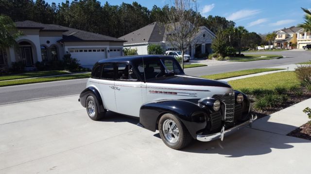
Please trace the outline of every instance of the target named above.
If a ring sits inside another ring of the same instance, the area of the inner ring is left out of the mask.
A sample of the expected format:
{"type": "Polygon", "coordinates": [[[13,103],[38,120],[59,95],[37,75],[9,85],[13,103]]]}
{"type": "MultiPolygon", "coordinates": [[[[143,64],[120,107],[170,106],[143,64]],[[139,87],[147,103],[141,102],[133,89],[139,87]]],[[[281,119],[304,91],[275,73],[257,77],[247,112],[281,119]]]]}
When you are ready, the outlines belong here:
{"type": "Polygon", "coordinates": [[[217,80],[209,80],[205,78],[199,78],[189,75],[173,75],[167,77],[157,77],[152,79],[146,79],[148,83],[163,83],[174,85],[193,85],[193,86],[210,86],[210,87],[228,87],[231,88],[225,82],[217,80]]]}

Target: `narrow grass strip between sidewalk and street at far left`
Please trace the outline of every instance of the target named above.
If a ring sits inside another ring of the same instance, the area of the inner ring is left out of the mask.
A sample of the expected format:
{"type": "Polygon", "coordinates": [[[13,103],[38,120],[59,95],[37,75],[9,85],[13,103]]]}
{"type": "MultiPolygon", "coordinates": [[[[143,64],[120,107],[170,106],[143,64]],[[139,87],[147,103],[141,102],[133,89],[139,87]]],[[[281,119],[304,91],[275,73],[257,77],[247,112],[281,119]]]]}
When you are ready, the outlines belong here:
{"type": "Polygon", "coordinates": [[[33,79],[20,79],[20,80],[12,80],[12,81],[4,81],[4,82],[0,81],[0,87],[39,83],[39,82],[51,82],[51,81],[59,81],[59,80],[88,78],[88,77],[90,77],[90,74],[91,73],[80,73],[80,74],[58,76],[58,77],[42,77],[42,78],[33,78],[33,79]]]}

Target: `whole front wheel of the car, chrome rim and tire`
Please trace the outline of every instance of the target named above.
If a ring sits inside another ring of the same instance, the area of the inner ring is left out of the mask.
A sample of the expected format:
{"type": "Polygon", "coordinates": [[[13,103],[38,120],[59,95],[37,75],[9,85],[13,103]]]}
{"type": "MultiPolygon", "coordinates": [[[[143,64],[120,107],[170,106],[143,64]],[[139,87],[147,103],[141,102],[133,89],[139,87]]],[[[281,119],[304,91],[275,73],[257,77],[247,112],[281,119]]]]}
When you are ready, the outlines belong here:
{"type": "Polygon", "coordinates": [[[190,144],[192,137],[181,120],[173,114],[164,114],[159,120],[160,137],[165,145],[179,150],[190,144]]]}

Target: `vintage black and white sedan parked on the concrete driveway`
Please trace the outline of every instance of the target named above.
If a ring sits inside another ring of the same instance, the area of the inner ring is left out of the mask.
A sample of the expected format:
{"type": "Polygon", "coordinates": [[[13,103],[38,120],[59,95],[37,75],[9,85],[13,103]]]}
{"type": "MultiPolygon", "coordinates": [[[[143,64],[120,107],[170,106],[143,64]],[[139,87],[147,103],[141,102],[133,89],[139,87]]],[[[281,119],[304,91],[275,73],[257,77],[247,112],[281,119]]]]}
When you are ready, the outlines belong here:
{"type": "Polygon", "coordinates": [[[186,75],[169,56],[130,56],[97,62],[80,94],[92,120],[107,111],[139,119],[158,130],[165,145],[181,149],[191,140],[223,140],[250,125],[250,102],[225,82],[186,75]]]}

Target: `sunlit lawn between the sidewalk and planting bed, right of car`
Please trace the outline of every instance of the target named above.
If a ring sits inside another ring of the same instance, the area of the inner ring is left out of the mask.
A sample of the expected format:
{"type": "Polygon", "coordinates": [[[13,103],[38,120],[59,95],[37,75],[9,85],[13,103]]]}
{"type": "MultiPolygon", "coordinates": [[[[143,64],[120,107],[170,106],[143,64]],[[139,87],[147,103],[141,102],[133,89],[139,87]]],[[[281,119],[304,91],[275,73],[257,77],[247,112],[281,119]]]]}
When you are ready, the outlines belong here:
{"type": "Polygon", "coordinates": [[[248,88],[252,89],[269,89],[273,90],[276,87],[290,88],[300,85],[295,72],[279,72],[244,79],[229,81],[229,84],[237,90],[248,88]]]}

